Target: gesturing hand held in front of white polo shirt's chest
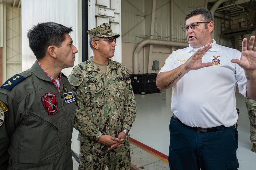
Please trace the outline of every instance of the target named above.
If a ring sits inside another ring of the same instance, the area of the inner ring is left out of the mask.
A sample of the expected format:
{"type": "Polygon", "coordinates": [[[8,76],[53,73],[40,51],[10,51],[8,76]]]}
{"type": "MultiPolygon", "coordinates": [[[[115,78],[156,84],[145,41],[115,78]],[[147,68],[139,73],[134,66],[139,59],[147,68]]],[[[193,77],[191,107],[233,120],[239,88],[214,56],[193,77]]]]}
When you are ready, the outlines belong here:
{"type": "Polygon", "coordinates": [[[213,63],[207,62],[202,63],[202,58],[204,54],[212,48],[210,43],[204,45],[202,48],[198,49],[184,64],[186,70],[198,70],[200,68],[212,66],[213,63]]]}

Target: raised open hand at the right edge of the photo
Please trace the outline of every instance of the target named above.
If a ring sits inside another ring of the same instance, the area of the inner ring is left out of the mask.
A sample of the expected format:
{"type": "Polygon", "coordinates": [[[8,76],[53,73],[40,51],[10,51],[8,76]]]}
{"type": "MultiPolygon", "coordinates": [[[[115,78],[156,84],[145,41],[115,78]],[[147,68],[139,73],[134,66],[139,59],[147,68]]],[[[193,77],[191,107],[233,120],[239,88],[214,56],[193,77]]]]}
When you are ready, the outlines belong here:
{"type": "Polygon", "coordinates": [[[241,58],[233,59],[231,62],[238,64],[245,70],[256,70],[256,43],[254,44],[255,36],[251,36],[247,49],[247,39],[244,38],[242,42],[241,58]]]}

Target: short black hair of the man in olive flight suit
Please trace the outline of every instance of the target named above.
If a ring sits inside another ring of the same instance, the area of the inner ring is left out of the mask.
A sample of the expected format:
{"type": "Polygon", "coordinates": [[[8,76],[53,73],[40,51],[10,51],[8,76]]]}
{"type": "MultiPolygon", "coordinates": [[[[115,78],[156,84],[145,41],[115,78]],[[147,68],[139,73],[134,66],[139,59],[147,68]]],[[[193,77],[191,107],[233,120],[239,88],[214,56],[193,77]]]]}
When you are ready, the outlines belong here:
{"type": "Polygon", "coordinates": [[[38,60],[46,55],[50,45],[61,47],[65,40],[65,33],[73,31],[72,27],[65,27],[58,23],[38,23],[28,32],[29,47],[38,60]]]}

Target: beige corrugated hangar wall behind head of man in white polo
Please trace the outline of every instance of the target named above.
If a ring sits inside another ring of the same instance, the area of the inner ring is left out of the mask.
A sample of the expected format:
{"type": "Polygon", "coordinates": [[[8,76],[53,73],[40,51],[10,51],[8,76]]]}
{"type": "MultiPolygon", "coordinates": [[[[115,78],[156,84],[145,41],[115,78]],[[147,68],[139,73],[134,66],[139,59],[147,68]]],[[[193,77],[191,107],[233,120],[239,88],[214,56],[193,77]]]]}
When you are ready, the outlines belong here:
{"type": "MultiPolygon", "coordinates": [[[[145,0],[123,0],[122,1],[122,41],[138,43],[141,38],[135,38],[136,36],[145,35],[145,28],[150,27],[150,23],[145,23],[145,19],[150,19],[150,15],[143,15],[144,8],[152,7],[152,5],[144,4],[152,3],[152,1],[145,0]],[[141,15],[141,16],[137,16],[141,15]],[[147,24],[147,25],[145,25],[147,24]]],[[[193,7],[194,1],[191,0],[174,0],[173,1],[173,32],[171,35],[171,13],[170,13],[170,0],[157,0],[155,10],[155,28],[154,38],[162,40],[173,40],[186,42],[186,33],[182,31],[182,27],[185,25],[185,17],[196,7],[193,7]],[[165,37],[165,38],[163,38],[165,37]]],[[[203,7],[203,6],[202,6],[203,7]]],[[[213,37],[220,45],[231,46],[230,38],[224,39],[221,36],[221,22],[222,19],[215,16],[214,18],[214,31],[213,37]]]]}

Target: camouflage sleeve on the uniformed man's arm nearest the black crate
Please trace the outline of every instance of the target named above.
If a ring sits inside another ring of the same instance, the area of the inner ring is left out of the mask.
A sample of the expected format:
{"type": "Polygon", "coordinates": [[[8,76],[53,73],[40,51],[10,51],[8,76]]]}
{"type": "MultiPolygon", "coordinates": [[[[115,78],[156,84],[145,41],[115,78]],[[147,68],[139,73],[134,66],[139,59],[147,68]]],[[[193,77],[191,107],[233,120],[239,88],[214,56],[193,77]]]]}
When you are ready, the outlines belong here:
{"type": "Polygon", "coordinates": [[[132,91],[132,83],[130,75],[127,69],[126,71],[126,88],[125,88],[125,101],[124,101],[124,119],[123,119],[123,127],[122,129],[130,130],[132,127],[132,123],[135,121],[137,109],[136,109],[136,102],[135,97],[132,91]]]}

